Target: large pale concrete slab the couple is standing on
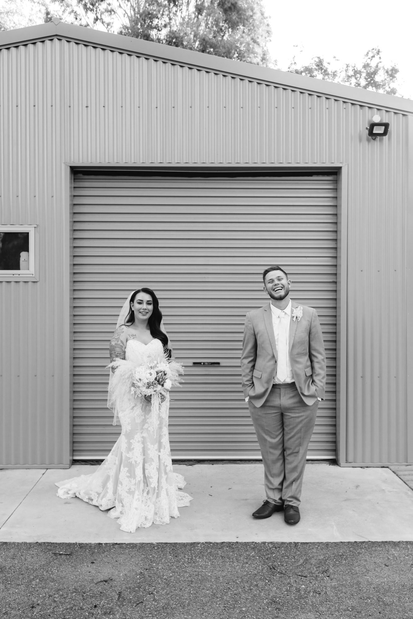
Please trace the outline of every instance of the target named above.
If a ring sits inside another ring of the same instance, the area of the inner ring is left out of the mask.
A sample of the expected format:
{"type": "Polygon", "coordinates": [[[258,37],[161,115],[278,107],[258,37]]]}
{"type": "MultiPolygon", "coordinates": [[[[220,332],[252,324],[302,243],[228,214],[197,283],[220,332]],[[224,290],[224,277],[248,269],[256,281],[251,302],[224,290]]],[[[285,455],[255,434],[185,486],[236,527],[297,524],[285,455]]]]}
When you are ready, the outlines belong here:
{"type": "MultiPolygon", "coordinates": [[[[262,464],[175,465],[193,496],[168,525],[134,534],[78,498],[61,500],[54,483],[96,467],[49,469],[0,529],[3,542],[353,542],[413,540],[413,491],[389,469],[308,464],[301,522],[283,514],[256,521],[264,495],[262,464]]],[[[17,471],[10,471],[10,474],[17,471]]]]}

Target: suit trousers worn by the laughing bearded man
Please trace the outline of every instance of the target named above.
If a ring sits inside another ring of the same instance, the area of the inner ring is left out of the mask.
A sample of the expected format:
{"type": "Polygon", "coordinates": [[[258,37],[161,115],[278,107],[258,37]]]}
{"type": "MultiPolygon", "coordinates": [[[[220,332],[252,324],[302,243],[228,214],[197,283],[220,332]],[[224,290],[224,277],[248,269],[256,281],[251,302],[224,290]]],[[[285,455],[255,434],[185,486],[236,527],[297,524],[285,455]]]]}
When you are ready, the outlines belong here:
{"type": "Polygon", "coordinates": [[[251,400],[248,405],[261,449],[267,500],[298,507],[318,400],[305,404],[292,383],[273,387],[262,406],[251,400]]]}

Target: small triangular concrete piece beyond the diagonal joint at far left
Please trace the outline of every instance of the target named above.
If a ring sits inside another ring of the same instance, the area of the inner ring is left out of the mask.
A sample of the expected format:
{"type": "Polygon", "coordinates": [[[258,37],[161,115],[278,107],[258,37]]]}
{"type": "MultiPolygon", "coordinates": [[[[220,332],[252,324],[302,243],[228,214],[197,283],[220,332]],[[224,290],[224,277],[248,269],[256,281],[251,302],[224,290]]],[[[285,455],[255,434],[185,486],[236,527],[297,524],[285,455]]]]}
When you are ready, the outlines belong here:
{"type": "Polygon", "coordinates": [[[45,470],[0,470],[0,528],[29,494],[45,470]]]}

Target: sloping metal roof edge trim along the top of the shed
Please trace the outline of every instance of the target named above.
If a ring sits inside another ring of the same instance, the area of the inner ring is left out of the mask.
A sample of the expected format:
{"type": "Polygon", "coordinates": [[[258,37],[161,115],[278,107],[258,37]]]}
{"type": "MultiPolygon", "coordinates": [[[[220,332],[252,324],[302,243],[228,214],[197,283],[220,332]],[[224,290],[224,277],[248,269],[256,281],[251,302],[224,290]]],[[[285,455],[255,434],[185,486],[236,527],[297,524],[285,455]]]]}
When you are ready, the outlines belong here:
{"type": "Polygon", "coordinates": [[[17,28],[0,32],[0,48],[16,45],[27,45],[35,41],[50,38],[63,38],[76,43],[84,43],[97,47],[109,48],[113,51],[137,54],[145,58],[180,64],[216,73],[223,73],[240,79],[264,82],[265,84],[284,87],[301,92],[308,92],[322,97],[346,100],[358,105],[366,105],[377,110],[386,109],[404,113],[413,113],[413,100],[393,97],[383,93],[355,88],[314,77],[302,76],[278,69],[269,69],[257,64],[242,63],[228,58],[202,54],[198,51],[182,50],[161,43],[143,41],[132,37],[124,37],[101,30],[92,30],[73,24],[65,24],[54,19],[48,24],[17,28]]]}

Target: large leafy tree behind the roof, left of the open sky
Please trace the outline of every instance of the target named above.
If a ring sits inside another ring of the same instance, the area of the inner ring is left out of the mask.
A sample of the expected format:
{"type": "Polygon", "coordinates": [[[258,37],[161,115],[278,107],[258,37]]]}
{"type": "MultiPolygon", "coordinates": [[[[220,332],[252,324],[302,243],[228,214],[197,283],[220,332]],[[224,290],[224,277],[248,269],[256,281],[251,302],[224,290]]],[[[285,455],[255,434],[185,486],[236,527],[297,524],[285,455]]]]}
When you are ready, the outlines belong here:
{"type": "Polygon", "coordinates": [[[51,0],[46,19],[254,64],[270,64],[262,0],[51,0]]]}

